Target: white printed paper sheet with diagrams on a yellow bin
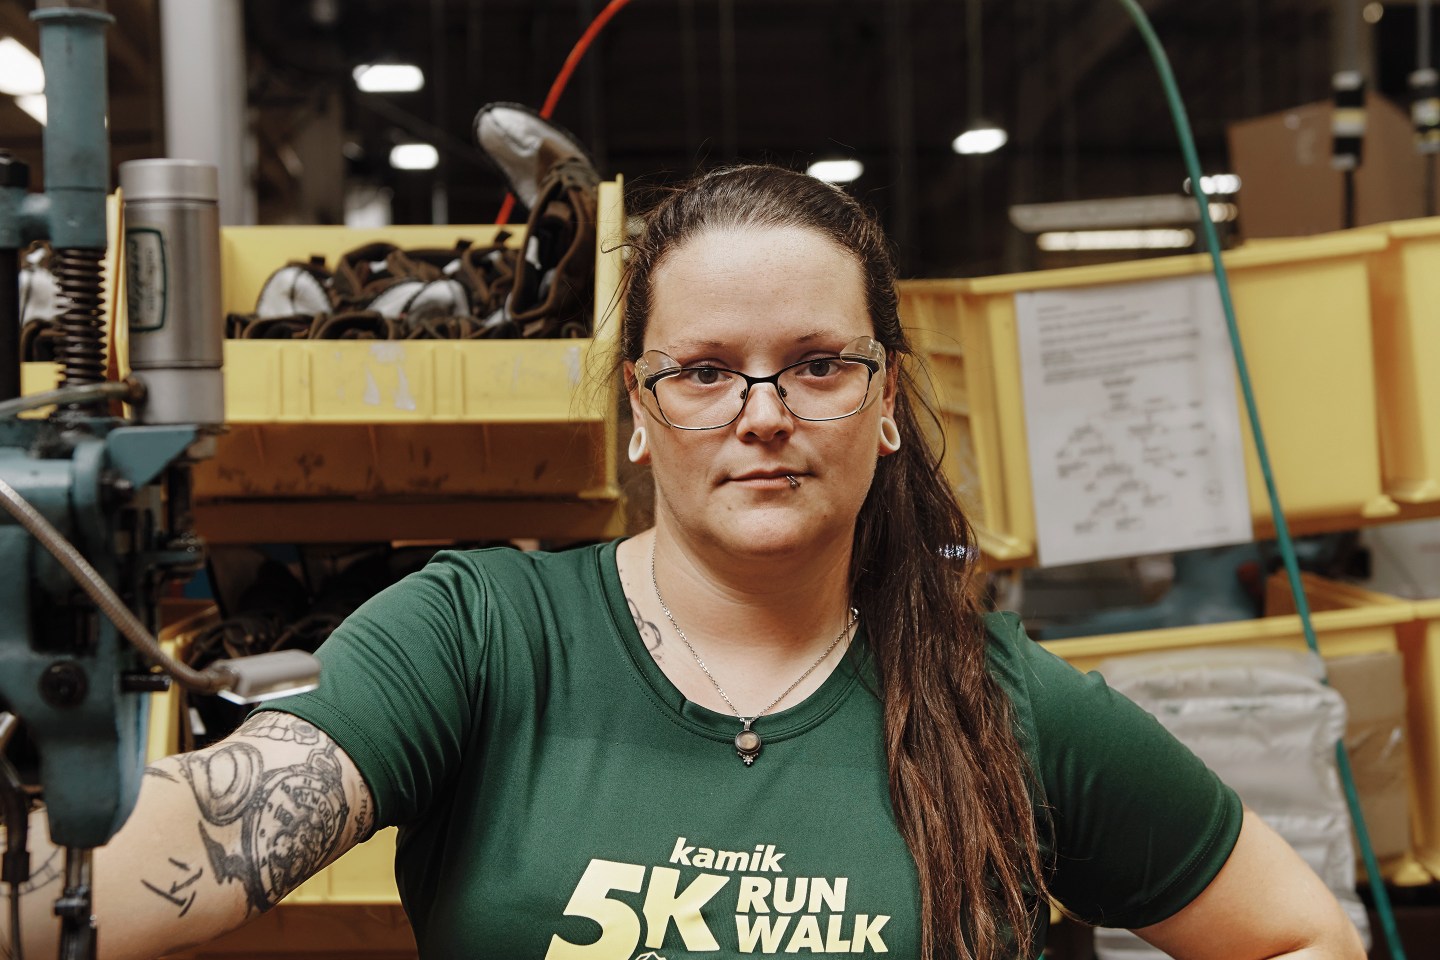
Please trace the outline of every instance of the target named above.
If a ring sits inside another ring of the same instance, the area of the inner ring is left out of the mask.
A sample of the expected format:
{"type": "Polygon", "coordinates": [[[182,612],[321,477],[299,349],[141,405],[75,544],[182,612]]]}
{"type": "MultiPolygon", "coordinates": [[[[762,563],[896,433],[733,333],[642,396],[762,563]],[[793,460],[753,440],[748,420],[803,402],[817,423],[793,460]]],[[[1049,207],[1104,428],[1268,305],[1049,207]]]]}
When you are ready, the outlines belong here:
{"type": "Polygon", "coordinates": [[[1015,295],[1045,566],[1253,538],[1215,282],[1015,295]]]}

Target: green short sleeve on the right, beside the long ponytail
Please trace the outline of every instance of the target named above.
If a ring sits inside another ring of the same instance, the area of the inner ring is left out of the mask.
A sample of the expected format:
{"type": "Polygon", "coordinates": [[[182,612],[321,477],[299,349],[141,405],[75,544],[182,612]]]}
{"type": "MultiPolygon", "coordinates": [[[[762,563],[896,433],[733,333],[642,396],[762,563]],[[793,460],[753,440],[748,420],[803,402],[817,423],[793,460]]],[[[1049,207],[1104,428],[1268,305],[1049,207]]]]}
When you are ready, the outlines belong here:
{"type": "Polygon", "coordinates": [[[1158,720],[988,617],[991,662],[1044,790],[1051,895],[1104,927],[1146,927],[1192,901],[1240,835],[1240,797],[1158,720]]]}

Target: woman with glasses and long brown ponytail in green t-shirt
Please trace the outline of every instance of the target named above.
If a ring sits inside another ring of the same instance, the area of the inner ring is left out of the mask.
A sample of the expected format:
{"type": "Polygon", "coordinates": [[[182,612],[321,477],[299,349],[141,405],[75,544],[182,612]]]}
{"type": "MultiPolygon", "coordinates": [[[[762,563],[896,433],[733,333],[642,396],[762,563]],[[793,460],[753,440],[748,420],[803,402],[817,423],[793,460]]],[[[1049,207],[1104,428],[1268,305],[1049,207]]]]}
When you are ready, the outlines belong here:
{"type": "Polygon", "coordinates": [[[858,204],[716,171],[626,271],[654,527],[444,554],[320,691],[153,766],[96,866],[105,956],[230,928],[389,823],[426,957],[1030,957],[1047,892],[1176,957],[1362,956],[1153,720],[982,615],[858,204]]]}

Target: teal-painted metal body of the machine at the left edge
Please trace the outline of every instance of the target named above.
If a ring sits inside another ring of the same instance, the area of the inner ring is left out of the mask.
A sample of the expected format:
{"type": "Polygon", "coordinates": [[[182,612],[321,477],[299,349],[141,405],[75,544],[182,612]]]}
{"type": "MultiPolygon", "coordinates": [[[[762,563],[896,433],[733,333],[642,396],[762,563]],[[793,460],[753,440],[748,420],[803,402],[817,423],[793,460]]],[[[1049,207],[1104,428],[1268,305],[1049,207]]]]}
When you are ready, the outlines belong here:
{"type": "MultiPolygon", "coordinates": [[[[202,561],[171,507],[180,507],[187,458],[203,453],[204,443],[199,427],[10,420],[0,423],[0,479],[154,629],[160,590],[202,561]]],[[[37,751],[55,842],[101,846],[134,806],[145,694],[164,689],[168,678],[151,672],[17,522],[0,522],[0,563],[7,570],[0,577],[0,701],[37,751]]]]}

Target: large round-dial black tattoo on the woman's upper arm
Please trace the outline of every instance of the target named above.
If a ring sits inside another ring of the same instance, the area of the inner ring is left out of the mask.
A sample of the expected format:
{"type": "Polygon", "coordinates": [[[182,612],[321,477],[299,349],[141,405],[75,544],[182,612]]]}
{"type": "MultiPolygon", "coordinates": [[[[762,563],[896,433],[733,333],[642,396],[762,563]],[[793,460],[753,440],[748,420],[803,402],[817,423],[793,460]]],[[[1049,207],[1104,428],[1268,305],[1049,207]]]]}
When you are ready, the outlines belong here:
{"type": "Polygon", "coordinates": [[[197,826],[215,881],[238,881],[248,910],[264,913],[278,904],[340,845],[350,805],[337,750],[327,741],[304,763],[274,770],[243,741],[180,757],[203,818],[197,826]]]}

